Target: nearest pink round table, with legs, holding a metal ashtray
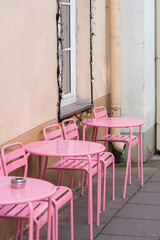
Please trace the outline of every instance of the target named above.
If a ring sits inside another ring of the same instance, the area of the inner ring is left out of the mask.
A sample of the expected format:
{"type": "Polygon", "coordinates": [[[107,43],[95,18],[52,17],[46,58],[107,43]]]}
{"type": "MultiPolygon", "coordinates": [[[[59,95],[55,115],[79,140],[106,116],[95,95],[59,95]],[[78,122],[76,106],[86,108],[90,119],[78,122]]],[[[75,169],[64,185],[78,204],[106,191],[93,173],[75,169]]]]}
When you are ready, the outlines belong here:
{"type": "Polygon", "coordinates": [[[56,187],[50,182],[26,178],[26,185],[22,189],[11,188],[12,177],[0,177],[0,205],[26,203],[29,207],[29,235],[28,239],[33,239],[33,208],[32,202],[48,199],[48,232],[47,239],[50,240],[51,228],[51,198],[56,187]]]}

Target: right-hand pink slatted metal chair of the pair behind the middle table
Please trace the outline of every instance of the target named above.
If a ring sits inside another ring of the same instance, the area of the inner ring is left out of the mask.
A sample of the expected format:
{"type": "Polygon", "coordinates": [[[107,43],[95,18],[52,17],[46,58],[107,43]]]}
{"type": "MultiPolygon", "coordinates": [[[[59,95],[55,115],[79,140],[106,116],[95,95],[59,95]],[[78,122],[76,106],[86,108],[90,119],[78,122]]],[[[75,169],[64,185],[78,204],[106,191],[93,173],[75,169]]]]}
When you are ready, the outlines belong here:
{"type": "MultiPolygon", "coordinates": [[[[62,127],[64,131],[65,139],[67,140],[79,140],[78,127],[74,119],[66,119],[62,121],[62,127]]],[[[85,140],[85,139],[83,139],[85,140]]],[[[92,156],[92,162],[95,165],[97,161],[96,156],[92,156]]],[[[105,196],[106,196],[106,168],[112,164],[112,199],[115,199],[115,161],[114,156],[110,152],[103,152],[100,154],[100,162],[102,163],[103,172],[103,210],[105,210],[105,196]]],[[[74,168],[73,168],[74,169],[74,168]]],[[[97,173],[97,167],[92,169],[92,176],[97,173]]],[[[73,177],[73,176],[72,176],[73,177]]],[[[84,178],[84,175],[82,175],[84,178]]],[[[84,182],[84,180],[82,180],[84,182]]]]}

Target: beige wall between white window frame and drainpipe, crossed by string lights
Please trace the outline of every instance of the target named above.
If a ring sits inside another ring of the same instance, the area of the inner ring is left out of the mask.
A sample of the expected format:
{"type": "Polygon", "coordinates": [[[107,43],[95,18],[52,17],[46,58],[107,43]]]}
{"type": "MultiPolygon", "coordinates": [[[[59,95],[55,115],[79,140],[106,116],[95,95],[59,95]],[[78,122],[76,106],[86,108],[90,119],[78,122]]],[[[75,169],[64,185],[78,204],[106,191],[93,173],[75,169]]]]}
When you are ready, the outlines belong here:
{"type": "MultiPolygon", "coordinates": [[[[77,94],[80,99],[90,99],[90,26],[89,2],[77,1],[77,94]]],[[[109,43],[108,43],[108,10],[106,1],[96,1],[93,10],[95,22],[93,31],[93,87],[94,100],[110,93],[109,81],[109,43]]]]}

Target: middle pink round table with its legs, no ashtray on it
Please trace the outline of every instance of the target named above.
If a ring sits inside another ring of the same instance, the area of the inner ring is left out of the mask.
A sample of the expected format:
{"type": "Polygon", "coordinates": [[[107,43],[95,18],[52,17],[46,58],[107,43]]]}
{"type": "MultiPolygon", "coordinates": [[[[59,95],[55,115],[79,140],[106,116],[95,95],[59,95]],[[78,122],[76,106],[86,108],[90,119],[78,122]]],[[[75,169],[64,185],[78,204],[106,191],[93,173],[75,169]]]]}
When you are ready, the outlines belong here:
{"type": "Polygon", "coordinates": [[[50,140],[31,142],[25,145],[25,150],[29,153],[40,156],[52,157],[75,157],[87,156],[89,161],[89,219],[90,219],[90,240],[93,240],[93,209],[92,209],[92,172],[91,155],[97,154],[97,225],[99,226],[99,214],[101,211],[101,168],[100,153],[105,147],[102,144],[88,141],[74,140],[50,140]]]}

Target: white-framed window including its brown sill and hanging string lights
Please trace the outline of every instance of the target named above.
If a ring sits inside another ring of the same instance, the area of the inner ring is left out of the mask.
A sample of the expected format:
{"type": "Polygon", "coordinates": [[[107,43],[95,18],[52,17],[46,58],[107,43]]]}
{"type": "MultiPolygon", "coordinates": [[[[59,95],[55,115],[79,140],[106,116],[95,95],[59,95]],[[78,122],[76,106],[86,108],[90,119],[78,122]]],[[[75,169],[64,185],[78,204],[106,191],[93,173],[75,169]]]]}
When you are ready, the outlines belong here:
{"type": "MultiPolygon", "coordinates": [[[[91,0],[90,0],[91,1],[91,0]]],[[[91,4],[89,4],[91,5],[91,4]]],[[[88,6],[89,6],[88,5],[88,6]]],[[[90,68],[91,101],[77,99],[76,86],[76,0],[57,0],[57,83],[58,83],[58,121],[93,107],[93,76],[90,68]]],[[[90,9],[90,21],[93,18],[90,9]]],[[[88,16],[88,20],[89,20],[88,16]]],[[[88,21],[89,24],[89,21],[88,21]]],[[[90,28],[91,31],[92,28],[90,28]]],[[[92,66],[92,37],[90,32],[90,66],[92,66]]],[[[89,44],[89,42],[88,42],[89,44]]],[[[89,61],[88,61],[89,64],[89,61]]],[[[89,86],[89,85],[88,85],[89,86]]],[[[86,89],[85,89],[86,90],[86,89]]],[[[83,97],[82,97],[83,98],[83,97]]]]}

